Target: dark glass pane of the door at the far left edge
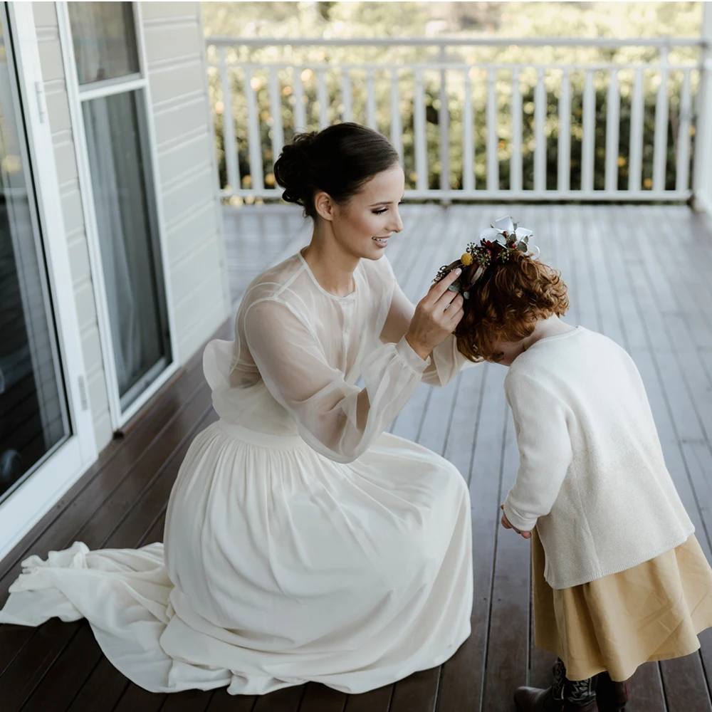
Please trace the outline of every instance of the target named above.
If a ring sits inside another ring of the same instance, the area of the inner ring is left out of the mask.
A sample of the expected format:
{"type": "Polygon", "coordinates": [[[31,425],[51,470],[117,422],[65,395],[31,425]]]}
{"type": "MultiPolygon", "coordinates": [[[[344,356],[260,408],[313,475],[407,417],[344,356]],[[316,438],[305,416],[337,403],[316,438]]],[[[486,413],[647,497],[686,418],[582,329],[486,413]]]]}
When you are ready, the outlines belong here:
{"type": "Polygon", "coordinates": [[[0,28],[0,500],[70,434],[12,43],[0,28]]]}

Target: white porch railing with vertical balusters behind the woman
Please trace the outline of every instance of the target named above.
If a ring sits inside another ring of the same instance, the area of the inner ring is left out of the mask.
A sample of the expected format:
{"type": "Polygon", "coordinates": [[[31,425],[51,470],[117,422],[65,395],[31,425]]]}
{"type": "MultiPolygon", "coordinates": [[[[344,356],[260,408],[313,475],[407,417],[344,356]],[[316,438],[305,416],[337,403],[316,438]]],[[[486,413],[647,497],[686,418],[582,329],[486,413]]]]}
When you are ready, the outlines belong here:
{"type": "Polygon", "coordinates": [[[695,38],[207,44],[224,197],[278,198],[272,165],[285,142],[350,120],[389,137],[407,199],[692,194],[694,108],[705,71],[695,38]],[[489,56],[473,58],[477,52],[489,56]],[[576,61],[555,56],[563,52],[576,61]]]}

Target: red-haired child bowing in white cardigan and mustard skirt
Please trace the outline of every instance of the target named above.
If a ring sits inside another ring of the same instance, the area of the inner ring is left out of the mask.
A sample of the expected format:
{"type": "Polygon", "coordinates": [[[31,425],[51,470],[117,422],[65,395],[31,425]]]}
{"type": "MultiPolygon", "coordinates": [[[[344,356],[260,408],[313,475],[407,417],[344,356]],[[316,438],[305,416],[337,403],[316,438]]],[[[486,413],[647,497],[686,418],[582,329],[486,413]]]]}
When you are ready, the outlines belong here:
{"type": "Polygon", "coordinates": [[[613,712],[650,660],[688,655],[712,626],[712,570],[666,470],[639,373],[621,347],[560,321],[559,274],[506,217],[459,261],[458,348],[509,366],[520,451],[502,524],[531,538],[535,642],[553,686],[518,712],[613,712]]]}

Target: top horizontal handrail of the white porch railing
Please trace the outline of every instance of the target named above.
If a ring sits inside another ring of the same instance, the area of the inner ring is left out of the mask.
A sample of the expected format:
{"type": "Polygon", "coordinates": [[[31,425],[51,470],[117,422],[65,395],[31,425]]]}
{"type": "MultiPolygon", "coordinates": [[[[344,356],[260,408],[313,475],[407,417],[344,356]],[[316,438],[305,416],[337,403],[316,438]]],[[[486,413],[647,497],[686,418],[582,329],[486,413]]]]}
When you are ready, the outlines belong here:
{"type": "Polygon", "coordinates": [[[701,47],[707,46],[701,37],[231,37],[215,35],[205,38],[207,46],[234,47],[701,47]]]}

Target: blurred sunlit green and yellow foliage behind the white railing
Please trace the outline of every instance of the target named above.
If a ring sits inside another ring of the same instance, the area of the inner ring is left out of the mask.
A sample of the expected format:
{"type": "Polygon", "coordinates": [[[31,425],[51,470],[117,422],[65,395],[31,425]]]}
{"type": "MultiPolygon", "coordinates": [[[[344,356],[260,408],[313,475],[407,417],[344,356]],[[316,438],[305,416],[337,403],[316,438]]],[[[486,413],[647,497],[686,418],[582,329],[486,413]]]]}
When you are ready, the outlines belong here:
{"type": "MultiPolygon", "coordinates": [[[[232,3],[204,3],[207,34],[278,36],[420,36],[425,33],[445,33],[447,36],[468,34],[473,30],[504,36],[696,36],[701,22],[701,4],[677,3],[383,3],[383,2],[332,2],[332,3],[240,3],[239,13],[232,3]]],[[[352,85],[352,119],[366,122],[365,71],[360,63],[378,63],[387,70],[375,74],[376,120],[379,130],[389,136],[391,112],[390,67],[399,69],[399,103],[402,122],[404,169],[407,187],[415,186],[414,156],[414,80],[407,63],[435,60],[434,48],[383,48],[357,47],[284,47],[247,48],[236,44],[228,51],[228,61],[251,63],[257,66],[253,86],[258,104],[259,130],[263,156],[263,172],[266,187],[273,185],[271,131],[273,118],[268,91],[268,73],[259,67],[269,63],[296,65],[304,85],[305,114],[309,130],[318,130],[319,105],[317,100],[317,77],[313,68],[328,66],[325,84],[328,93],[328,122],[342,120],[344,102],[342,97],[342,73],[334,68],[340,63],[350,63],[352,85]]],[[[671,63],[693,64],[695,48],[671,51],[671,63]]],[[[209,59],[216,61],[214,48],[209,59]]],[[[620,50],[597,48],[449,48],[446,61],[456,65],[448,70],[446,80],[447,109],[449,114],[449,175],[451,187],[463,184],[463,108],[464,65],[476,65],[469,72],[471,80],[472,114],[474,125],[474,172],[476,188],[486,187],[486,100],[488,63],[572,64],[572,63],[649,63],[657,59],[656,48],[628,47],[620,50]]],[[[285,142],[293,136],[294,97],[293,70],[281,68],[278,72],[281,89],[281,117],[285,142]]],[[[697,73],[691,73],[692,90],[696,91],[697,73]]],[[[581,184],[582,153],[582,100],[584,73],[573,71],[571,76],[571,138],[570,185],[577,189],[581,184]]],[[[667,146],[666,187],[675,185],[676,151],[679,125],[679,102],[682,73],[671,72],[667,84],[670,105],[667,146]]],[[[604,71],[595,73],[595,177],[596,189],[604,186],[604,163],[606,145],[607,83],[609,75],[604,71]]],[[[619,187],[627,187],[627,170],[630,142],[630,110],[633,75],[629,70],[619,72],[621,90],[618,179],[619,187]]],[[[522,94],[522,162],[523,187],[533,188],[534,166],[534,70],[523,69],[520,75],[522,94]]],[[[560,71],[548,70],[544,77],[547,100],[545,140],[547,187],[556,187],[558,92],[560,71]]],[[[659,73],[644,73],[644,151],[642,186],[650,187],[654,150],[655,101],[659,73]]],[[[431,188],[440,186],[441,161],[439,151],[440,73],[437,70],[424,73],[425,117],[427,144],[427,183],[431,188]]],[[[223,156],[221,96],[219,75],[211,71],[211,103],[214,108],[216,145],[219,152],[221,183],[226,184],[223,156]]],[[[239,154],[241,187],[250,187],[248,160],[248,129],[245,99],[245,74],[242,68],[231,69],[232,110],[239,154]]],[[[499,186],[509,187],[510,157],[513,146],[511,97],[512,78],[508,70],[498,71],[496,77],[497,136],[499,186]]],[[[691,133],[694,132],[694,125],[691,133]]]]}

